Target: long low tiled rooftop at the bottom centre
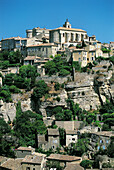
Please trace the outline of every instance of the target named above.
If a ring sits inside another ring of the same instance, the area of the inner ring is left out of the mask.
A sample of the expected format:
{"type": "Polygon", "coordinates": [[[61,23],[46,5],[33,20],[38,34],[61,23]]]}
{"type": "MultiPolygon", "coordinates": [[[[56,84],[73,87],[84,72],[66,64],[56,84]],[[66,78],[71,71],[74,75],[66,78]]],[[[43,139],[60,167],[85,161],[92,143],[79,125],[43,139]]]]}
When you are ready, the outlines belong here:
{"type": "Polygon", "coordinates": [[[81,157],[61,155],[61,154],[51,154],[50,156],[47,157],[47,159],[71,162],[71,161],[79,161],[81,160],[81,157]]]}

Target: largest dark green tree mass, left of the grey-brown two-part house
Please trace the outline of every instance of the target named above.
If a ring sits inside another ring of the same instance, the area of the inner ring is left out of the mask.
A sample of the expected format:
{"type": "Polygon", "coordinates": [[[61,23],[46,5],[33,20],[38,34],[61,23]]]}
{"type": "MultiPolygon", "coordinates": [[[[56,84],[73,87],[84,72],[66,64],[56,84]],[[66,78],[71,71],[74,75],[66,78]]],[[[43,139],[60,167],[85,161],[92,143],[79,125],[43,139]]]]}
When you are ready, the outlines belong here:
{"type": "Polygon", "coordinates": [[[41,115],[26,111],[18,113],[14,121],[14,132],[20,145],[36,147],[37,134],[44,134],[46,127],[41,115]]]}

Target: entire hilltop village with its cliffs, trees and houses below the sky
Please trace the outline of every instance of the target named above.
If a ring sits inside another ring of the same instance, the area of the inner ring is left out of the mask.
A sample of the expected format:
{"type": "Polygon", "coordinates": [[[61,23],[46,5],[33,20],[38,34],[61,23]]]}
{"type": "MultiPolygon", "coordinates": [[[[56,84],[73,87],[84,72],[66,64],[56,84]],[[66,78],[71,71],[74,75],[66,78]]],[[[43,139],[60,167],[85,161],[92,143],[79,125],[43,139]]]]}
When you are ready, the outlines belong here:
{"type": "Polygon", "coordinates": [[[114,168],[114,42],[68,19],[0,41],[0,169],[114,168]]]}

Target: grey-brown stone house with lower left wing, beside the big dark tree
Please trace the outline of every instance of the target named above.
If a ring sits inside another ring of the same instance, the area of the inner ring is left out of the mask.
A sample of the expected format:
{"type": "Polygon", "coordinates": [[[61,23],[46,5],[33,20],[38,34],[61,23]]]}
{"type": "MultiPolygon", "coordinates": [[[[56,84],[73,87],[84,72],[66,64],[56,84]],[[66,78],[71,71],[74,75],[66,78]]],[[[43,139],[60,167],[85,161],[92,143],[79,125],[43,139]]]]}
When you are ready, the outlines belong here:
{"type": "Polygon", "coordinates": [[[59,131],[58,129],[49,129],[47,135],[38,135],[38,147],[42,147],[44,150],[52,148],[56,150],[59,147],[59,131]]]}

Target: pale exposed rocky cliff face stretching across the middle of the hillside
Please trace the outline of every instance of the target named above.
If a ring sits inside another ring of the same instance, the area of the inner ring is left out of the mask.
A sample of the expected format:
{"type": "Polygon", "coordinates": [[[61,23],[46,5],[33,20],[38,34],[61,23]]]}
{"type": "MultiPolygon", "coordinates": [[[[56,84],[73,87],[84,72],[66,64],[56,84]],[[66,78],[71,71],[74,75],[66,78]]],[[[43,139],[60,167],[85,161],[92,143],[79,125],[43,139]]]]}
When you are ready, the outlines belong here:
{"type": "MultiPolygon", "coordinates": [[[[88,73],[74,73],[74,80],[65,81],[64,88],[55,91],[54,82],[48,82],[50,87],[49,95],[43,97],[40,106],[37,107],[44,119],[48,117],[51,108],[61,106],[67,108],[66,100],[72,99],[78,103],[82,109],[97,109],[106,99],[113,101],[113,65],[108,61],[99,63],[88,73]],[[111,80],[112,79],[112,80],[111,80]],[[59,98],[59,100],[57,100],[59,98]]],[[[12,94],[13,103],[2,103],[0,114],[6,121],[13,120],[16,116],[16,104],[21,101],[22,111],[32,110],[34,104],[31,104],[31,94],[33,91],[23,94],[12,94]]]]}

